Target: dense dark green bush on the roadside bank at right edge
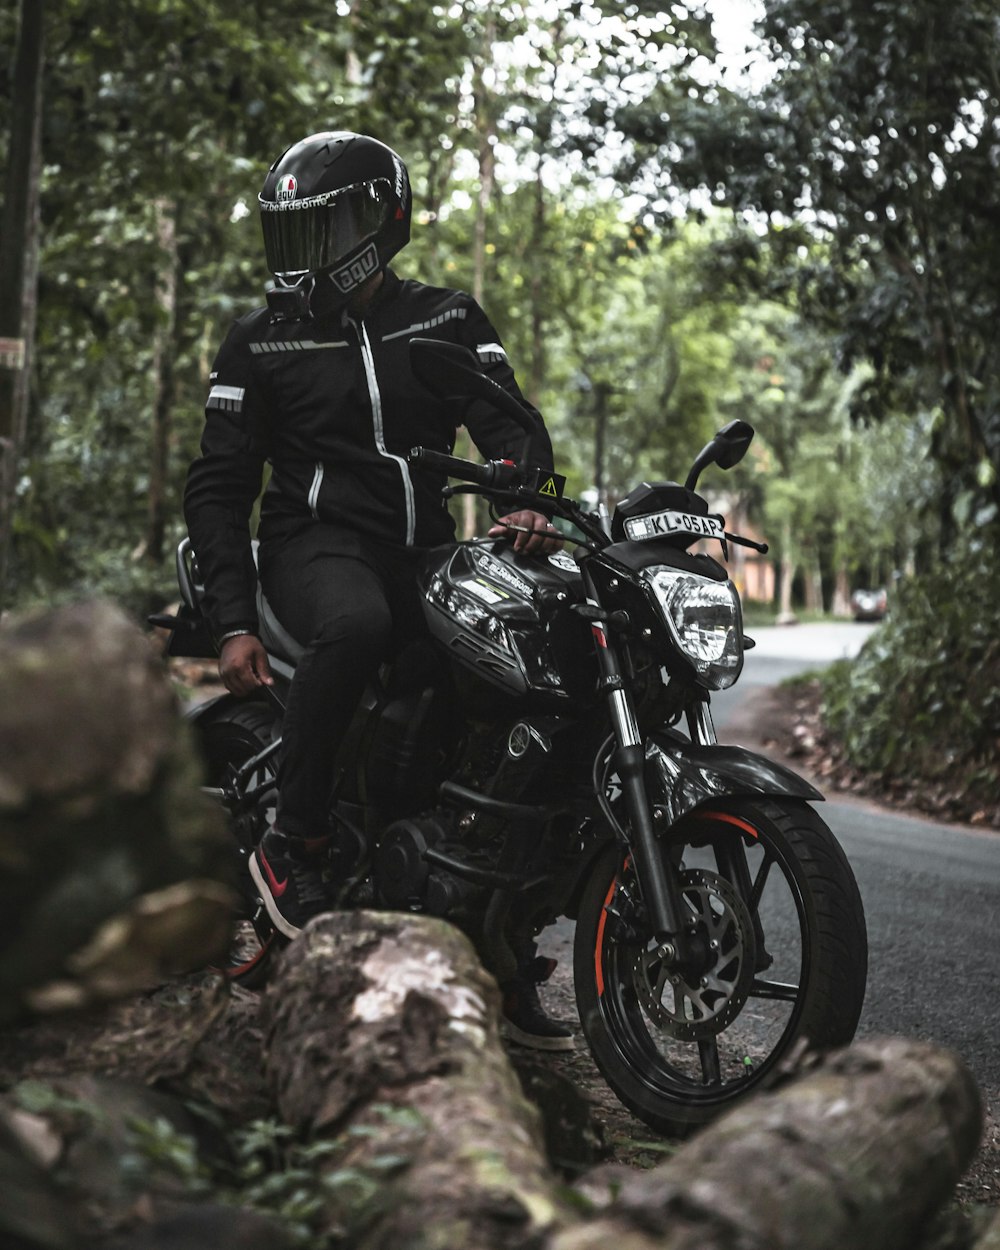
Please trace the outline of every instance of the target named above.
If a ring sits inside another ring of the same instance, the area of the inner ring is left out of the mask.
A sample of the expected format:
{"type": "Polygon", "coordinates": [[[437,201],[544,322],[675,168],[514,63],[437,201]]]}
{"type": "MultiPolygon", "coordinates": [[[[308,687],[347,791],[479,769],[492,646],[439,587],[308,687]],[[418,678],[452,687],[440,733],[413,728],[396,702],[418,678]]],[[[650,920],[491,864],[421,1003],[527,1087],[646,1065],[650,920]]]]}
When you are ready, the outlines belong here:
{"type": "Polygon", "coordinates": [[[855,661],[824,676],[824,721],[849,761],[885,781],[924,778],[969,810],[1000,794],[1000,534],[906,580],[855,661]]]}

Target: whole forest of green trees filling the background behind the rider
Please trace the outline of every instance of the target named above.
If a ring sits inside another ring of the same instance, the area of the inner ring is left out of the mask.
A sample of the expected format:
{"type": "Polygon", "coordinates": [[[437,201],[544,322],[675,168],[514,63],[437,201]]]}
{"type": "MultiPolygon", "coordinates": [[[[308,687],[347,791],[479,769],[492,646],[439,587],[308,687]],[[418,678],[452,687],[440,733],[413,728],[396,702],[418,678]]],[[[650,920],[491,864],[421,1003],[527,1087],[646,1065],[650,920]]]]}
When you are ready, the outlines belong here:
{"type": "Polygon", "coordinates": [[[775,609],[890,588],[826,684],[848,754],[1000,794],[992,0],[2,0],[0,50],[4,606],[172,598],[256,191],[360,130],[410,168],[398,270],[481,300],[569,492],[749,420],[712,486],[775,609]]]}

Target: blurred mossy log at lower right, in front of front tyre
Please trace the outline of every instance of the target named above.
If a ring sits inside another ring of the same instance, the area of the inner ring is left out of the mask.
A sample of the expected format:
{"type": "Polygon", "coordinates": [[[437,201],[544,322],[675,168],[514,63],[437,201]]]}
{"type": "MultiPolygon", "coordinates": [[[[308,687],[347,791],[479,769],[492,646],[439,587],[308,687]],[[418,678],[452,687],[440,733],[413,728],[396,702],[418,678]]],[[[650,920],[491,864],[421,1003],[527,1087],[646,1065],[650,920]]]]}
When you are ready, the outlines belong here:
{"type": "Polygon", "coordinates": [[[858,1042],[626,1176],[600,1219],[551,1250],[911,1250],[981,1130],[958,1055],[901,1038],[858,1042]]]}

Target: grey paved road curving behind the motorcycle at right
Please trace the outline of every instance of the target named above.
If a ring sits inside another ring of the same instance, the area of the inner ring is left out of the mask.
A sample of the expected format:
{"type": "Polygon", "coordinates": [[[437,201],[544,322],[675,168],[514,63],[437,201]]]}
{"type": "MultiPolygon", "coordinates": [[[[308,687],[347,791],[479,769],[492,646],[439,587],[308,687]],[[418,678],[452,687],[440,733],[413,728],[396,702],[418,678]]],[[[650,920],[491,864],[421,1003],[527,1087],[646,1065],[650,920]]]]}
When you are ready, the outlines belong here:
{"type": "MultiPolygon", "coordinates": [[[[739,684],[712,704],[719,736],[725,740],[728,719],[754,688],[851,655],[875,628],[751,630],[758,646],[739,684]]],[[[1000,1114],[1000,835],[858,801],[828,800],[821,811],[865,901],[870,968],[860,1032],[958,1050],[1000,1114]]]]}

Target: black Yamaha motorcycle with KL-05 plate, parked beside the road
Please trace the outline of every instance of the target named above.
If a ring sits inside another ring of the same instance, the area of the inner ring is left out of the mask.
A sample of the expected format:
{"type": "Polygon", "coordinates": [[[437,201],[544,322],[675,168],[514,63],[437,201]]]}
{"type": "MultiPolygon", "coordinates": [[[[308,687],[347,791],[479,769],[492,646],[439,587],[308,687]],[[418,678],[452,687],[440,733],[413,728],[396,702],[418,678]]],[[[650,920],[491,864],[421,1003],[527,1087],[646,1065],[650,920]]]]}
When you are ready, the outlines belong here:
{"type": "MultiPolygon", "coordinates": [[[[486,399],[528,429],[518,401],[466,349],[415,340],[421,381],[486,399]]],[[[710,700],[740,676],[739,594],[699,540],[730,534],[696,492],[752,429],[732,421],[686,482],[644,482],[606,515],[555,472],[410,454],[446,495],[492,515],[551,515],[574,550],[515,554],[474,539],[426,554],[428,641],[368,691],[336,761],[331,879],[339,908],[444,916],[498,980],[511,938],[575,922],[580,1025],[618,1098],[654,1130],[685,1134],[774,1078],[804,1042],[854,1036],[868,941],[848,859],[788,768],[716,740],[710,700]]],[[[198,566],[178,552],[172,655],[212,655],[198,566]]],[[[301,645],[258,594],[275,686],[192,712],[209,790],[229,811],[246,894],[230,975],[254,984],[284,941],[245,865],[272,820],[282,691],[301,645]]]]}

